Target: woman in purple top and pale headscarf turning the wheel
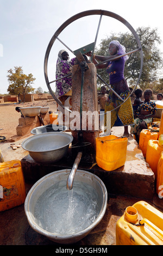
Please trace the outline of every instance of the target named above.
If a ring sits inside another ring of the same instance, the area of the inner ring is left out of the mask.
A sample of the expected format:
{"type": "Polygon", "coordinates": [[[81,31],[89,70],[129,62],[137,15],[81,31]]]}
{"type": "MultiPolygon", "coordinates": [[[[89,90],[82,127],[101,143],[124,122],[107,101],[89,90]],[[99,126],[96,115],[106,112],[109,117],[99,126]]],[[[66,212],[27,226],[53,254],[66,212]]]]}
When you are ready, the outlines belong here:
{"type": "MultiPolygon", "coordinates": [[[[114,40],[109,44],[109,54],[110,56],[93,56],[93,63],[98,64],[97,60],[104,62],[105,60],[112,59],[114,57],[118,57],[122,54],[126,53],[126,48],[120,44],[119,41],[114,40]]],[[[106,72],[109,74],[110,86],[111,88],[121,96],[123,100],[130,94],[130,90],[128,88],[127,82],[124,78],[124,64],[128,56],[117,58],[112,62],[106,62],[104,64],[97,65],[97,69],[106,68],[106,72]]],[[[108,100],[105,105],[105,113],[111,111],[111,123],[106,121],[105,114],[105,127],[106,132],[110,130],[112,126],[124,126],[124,134],[123,136],[128,137],[128,126],[134,124],[134,115],[133,115],[133,107],[131,105],[130,97],[129,99],[123,103],[123,105],[116,110],[113,110],[117,106],[120,106],[122,100],[120,100],[111,90],[108,95],[108,100]],[[109,127],[110,126],[110,127],[109,127]]]]}

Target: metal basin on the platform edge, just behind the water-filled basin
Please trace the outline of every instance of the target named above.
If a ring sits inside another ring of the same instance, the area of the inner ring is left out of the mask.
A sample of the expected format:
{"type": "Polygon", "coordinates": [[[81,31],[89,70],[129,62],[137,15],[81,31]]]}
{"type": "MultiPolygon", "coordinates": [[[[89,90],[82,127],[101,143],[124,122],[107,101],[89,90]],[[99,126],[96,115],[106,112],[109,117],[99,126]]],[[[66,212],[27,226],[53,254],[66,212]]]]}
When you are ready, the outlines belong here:
{"type": "Polygon", "coordinates": [[[47,132],[34,135],[22,142],[22,148],[36,161],[54,163],[67,154],[73,141],[72,135],[66,132],[47,132]]]}

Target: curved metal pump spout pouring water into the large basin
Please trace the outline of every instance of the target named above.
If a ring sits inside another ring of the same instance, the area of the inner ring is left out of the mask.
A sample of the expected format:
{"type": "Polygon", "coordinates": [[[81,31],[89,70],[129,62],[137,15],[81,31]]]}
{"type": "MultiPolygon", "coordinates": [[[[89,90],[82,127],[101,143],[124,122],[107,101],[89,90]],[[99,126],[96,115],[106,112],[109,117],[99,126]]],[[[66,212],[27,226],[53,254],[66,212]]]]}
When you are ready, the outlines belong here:
{"type": "Polygon", "coordinates": [[[79,162],[80,162],[81,158],[82,158],[82,152],[79,152],[77,157],[76,157],[76,160],[74,161],[74,164],[73,164],[73,167],[71,169],[71,172],[68,175],[67,186],[66,186],[67,190],[72,190],[74,176],[76,175],[76,172],[77,172],[77,169],[78,169],[78,165],[79,165],[79,162]]]}

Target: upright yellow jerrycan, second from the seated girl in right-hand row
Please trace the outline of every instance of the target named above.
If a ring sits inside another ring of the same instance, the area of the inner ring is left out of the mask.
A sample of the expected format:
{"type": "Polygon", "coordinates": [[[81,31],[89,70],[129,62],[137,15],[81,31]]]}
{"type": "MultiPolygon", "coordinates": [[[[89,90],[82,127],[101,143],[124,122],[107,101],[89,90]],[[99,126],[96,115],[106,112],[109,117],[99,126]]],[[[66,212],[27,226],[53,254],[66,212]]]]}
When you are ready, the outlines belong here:
{"type": "Polygon", "coordinates": [[[159,145],[159,141],[153,141],[152,139],[148,141],[147,152],[146,152],[146,162],[149,163],[155,178],[157,175],[157,167],[159,162],[160,153],[163,151],[163,146],[159,145]]]}

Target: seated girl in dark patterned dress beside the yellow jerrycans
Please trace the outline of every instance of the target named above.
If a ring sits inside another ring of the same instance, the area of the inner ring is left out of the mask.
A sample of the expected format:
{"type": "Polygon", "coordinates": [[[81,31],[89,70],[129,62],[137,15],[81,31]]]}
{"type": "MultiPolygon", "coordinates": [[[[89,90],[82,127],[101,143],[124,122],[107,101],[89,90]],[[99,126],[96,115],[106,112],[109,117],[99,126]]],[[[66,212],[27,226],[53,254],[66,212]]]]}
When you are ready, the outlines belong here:
{"type": "Polygon", "coordinates": [[[156,112],[156,105],[150,100],[152,93],[151,89],[145,90],[143,94],[145,102],[137,108],[134,125],[131,126],[130,132],[135,135],[137,143],[139,143],[140,132],[148,128],[147,124],[152,123],[152,118],[156,112]]]}

